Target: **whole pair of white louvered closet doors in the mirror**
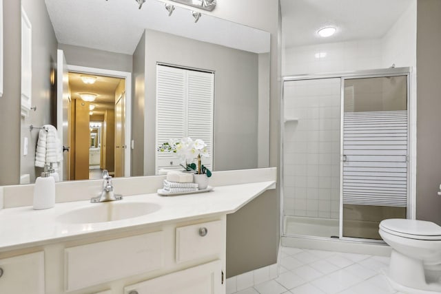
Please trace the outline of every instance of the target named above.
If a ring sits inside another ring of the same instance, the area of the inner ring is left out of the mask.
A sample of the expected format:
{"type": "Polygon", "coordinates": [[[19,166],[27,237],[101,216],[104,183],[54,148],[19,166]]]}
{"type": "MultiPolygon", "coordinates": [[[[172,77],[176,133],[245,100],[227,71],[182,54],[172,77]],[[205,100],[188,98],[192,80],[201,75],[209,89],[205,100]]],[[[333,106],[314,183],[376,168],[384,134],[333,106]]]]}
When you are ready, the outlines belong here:
{"type": "MultiPolygon", "coordinates": [[[[209,158],[203,165],[212,169],[214,74],[156,65],[156,147],[171,138],[203,140],[209,158]]],[[[158,169],[181,169],[180,160],[156,151],[158,169]]]]}

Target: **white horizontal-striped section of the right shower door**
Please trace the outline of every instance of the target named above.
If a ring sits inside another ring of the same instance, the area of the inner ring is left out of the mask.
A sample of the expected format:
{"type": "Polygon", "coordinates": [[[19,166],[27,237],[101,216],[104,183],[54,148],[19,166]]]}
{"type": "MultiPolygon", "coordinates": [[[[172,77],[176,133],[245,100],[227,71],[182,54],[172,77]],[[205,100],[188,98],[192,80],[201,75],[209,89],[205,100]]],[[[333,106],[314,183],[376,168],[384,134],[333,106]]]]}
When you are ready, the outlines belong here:
{"type": "Polygon", "coordinates": [[[343,203],[407,207],[407,111],[348,112],[343,203]]]}

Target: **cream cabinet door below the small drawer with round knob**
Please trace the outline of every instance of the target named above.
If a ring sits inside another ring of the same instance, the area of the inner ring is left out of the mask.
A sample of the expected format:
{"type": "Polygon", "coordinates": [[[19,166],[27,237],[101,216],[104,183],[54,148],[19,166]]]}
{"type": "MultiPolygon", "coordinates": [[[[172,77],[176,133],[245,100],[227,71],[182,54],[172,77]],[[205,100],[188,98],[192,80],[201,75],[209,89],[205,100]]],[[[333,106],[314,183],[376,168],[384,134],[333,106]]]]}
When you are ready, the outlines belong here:
{"type": "Polygon", "coordinates": [[[222,282],[222,264],[216,260],[127,286],[124,294],[221,294],[225,288],[222,282]]]}

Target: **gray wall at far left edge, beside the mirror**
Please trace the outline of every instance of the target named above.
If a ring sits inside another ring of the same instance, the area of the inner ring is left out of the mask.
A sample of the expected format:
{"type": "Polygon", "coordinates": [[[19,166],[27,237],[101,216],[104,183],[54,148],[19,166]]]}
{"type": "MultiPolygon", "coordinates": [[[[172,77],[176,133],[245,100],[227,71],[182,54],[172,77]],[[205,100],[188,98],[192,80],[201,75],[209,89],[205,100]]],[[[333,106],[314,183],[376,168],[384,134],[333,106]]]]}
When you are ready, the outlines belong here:
{"type": "Polygon", "coordinates": [[[20,1],[3,1],[3,96],[0,98],[0,185],[20,177],[20,1]]]}

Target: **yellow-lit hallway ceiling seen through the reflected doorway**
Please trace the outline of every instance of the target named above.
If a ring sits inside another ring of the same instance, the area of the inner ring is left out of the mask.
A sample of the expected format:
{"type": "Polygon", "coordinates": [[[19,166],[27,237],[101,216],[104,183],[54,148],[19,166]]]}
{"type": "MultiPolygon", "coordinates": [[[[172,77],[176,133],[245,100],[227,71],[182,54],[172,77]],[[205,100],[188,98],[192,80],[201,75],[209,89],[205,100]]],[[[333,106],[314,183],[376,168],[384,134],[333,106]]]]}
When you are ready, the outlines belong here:
{"type": "Polygon", "coordinates": [[[79,93],[88,92],[98,96],[91,104],[96,105],[94,114],[102,115],[106,109],[114,109],[115,90],[121,78],[112,78],[109,76],[96,76],[93,84],[85,84],[81,80],[81,74],[69,73],[69,87],[72,99],[80,99],[79,93]]]}

